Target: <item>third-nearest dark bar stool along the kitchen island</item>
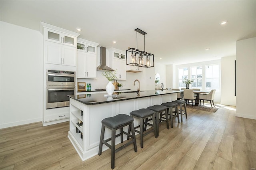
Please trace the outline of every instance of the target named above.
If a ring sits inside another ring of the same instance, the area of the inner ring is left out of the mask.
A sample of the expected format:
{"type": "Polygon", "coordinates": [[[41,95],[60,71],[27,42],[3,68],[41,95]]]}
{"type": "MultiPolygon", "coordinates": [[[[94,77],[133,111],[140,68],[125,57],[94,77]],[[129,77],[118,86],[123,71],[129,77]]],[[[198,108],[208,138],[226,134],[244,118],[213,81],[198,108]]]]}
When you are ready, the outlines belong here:
{"type": "MultiPolygon", "coordinates": [[[[165,117],[166,117],[166,125],[167,128],[169,128],[169,122],[168,122],[168,112],[167,112],[167,107],[163,106],[163,105],[154,105],[154,106],[150,106],[147,107],[147,109],[150,109],[152,111],[156,112],[156,134],[157,136],[159,136],[159,113],[164,112],[165,113],[165,117]]],[[[146,122],[151,121],[151,119],[146,119],[146,122]]],[[[145,130],[146,130],[146,125],[145,125],[145,130]]]]}

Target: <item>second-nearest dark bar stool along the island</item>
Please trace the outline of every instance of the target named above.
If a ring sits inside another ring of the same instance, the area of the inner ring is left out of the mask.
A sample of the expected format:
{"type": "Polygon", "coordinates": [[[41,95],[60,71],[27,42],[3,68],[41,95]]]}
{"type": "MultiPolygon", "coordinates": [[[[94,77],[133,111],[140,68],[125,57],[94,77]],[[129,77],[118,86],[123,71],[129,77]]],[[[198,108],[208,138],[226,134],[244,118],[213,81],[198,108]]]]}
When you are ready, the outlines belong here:
{"type": "MultiPolygon", "coordinates": [[[[132,117],[140,119],[140,125],[134,127],[135,128],[135,132],[140,134],[140,147],[143,148],[143,137],[146,136],[147,134],[149,134],[150,132],[154,131],[155,134],[155,138],[157,138],[156,135],[156,119],[154,118],[156,115],[156,112],[150,110],[150,109],[139,109],[136,111],[132,111],[130,113],[130,115],[132,115],[132,117]],[[152,117],[152,121],[153,121],[153,125],[147,122],[144,122],[144,119],[148,119],[149,117],[152,117]],[[152,130],[144,133],[144,125],[149,125],[151,127],[153,127],[152,130]],[[136,128],[140,127],[140,131],[136,130],[136,128]]],[[[130,133],[130,128],[128,130],[128,133],[130,133]]],[[[129,136],[127,136],[127,139],[129,139],[129,136]]]]}

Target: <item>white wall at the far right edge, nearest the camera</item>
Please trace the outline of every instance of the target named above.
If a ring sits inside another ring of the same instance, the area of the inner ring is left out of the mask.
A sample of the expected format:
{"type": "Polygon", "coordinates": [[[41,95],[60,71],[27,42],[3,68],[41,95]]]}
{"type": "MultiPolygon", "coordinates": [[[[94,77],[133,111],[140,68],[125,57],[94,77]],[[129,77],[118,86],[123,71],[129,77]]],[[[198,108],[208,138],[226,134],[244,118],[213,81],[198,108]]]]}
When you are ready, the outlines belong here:
{"type": "Polygon", "coordinates": [[[236,116],[256,119],[256,38],[236,42],[236,116]]]}

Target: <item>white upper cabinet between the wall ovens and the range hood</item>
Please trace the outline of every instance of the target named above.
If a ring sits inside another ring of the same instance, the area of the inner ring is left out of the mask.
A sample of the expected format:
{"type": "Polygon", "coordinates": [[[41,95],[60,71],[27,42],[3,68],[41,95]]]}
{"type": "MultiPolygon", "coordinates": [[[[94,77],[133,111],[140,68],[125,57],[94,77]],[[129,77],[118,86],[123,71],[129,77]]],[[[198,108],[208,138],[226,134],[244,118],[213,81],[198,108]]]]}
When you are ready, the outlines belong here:
{"type": "Polygon", "coordinates": [[[77,41],[77,77],[86,79],[97,78],[97,46],[99,43],[81,38],[77,41]]]}

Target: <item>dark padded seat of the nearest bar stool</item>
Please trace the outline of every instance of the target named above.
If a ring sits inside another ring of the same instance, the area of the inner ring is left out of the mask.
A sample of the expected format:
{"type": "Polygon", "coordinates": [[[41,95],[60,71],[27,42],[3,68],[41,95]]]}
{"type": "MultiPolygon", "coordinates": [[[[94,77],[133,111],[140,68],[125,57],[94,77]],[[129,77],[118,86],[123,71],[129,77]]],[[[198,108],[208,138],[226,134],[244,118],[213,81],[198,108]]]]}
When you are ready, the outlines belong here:
{"type": "Polygon", "coordinates": [[[132,121],[134,119],[129,115],[119,114],[114,117],[105,118],[101,122],[110,128],[118,128],[132,121]]]}

